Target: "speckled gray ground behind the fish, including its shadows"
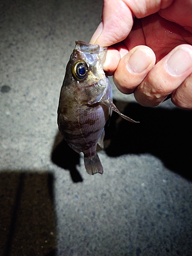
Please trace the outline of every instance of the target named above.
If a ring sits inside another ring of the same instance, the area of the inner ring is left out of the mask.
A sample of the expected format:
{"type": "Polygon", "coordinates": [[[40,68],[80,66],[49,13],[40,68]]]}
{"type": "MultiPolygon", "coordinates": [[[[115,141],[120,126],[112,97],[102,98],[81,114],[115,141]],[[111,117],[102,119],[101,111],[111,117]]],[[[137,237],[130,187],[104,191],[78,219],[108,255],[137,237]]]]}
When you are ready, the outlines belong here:
{"type": "Polygon", "coordinates": [[[75,40],[89,41],[102,1],[0,1],[0,254],[192,255],[191,112],[142,108],[113,87],[104,174],[58,133],[75,40]]]}

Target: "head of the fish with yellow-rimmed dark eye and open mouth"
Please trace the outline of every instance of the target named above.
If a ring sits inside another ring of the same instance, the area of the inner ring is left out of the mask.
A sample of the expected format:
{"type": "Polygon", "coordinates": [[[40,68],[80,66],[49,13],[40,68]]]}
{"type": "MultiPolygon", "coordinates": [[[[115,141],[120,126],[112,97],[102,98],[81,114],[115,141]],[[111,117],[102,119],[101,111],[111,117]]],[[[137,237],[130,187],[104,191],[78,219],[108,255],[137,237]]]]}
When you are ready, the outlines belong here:
{"type": "Polygon", "coordinates": [[[102,67],[106,49],[99,45],[76,41],[65,79],[67,80],[66,86],[75,87],[76,99],[80,104],[97,103],[106,92],[108,84],[102,67]]]}

